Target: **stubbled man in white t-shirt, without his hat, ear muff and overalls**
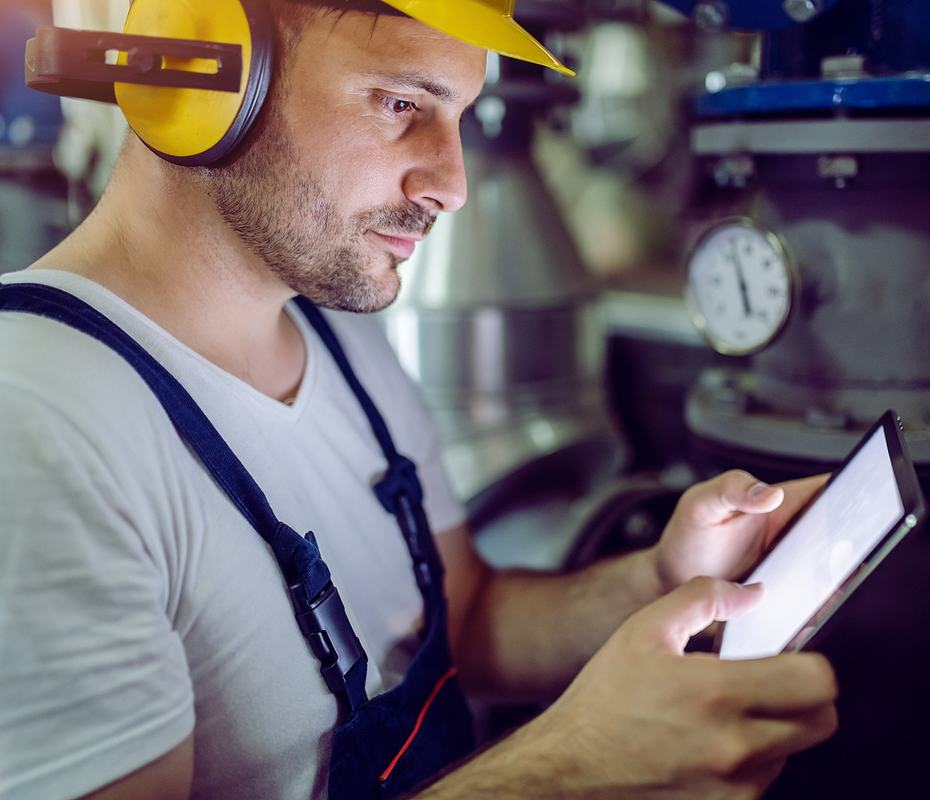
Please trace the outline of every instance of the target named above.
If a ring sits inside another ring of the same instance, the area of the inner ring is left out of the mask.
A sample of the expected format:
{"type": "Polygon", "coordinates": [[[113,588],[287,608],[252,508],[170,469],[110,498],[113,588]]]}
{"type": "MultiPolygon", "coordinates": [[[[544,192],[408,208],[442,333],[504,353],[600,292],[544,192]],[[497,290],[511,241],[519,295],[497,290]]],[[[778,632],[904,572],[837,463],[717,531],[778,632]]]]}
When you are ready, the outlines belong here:
{"type": "MultiPolygon", "coordinates": [[[[316,532],[368,653],[368,696],[384,697],[411,663],[422,605],[371,493],[384,457],[288,301],[369,312],[394,299],[398,263],[465,202],[458,125],[485,51],[338,2],[272,7],[285,55],[243,151],[183,169],[130,136],[90,218],[5,283],[76,296],[183,384],[278,517],[316,532]]],[[[790,753],[832,733],[819,656],[682,655],[757,600],[724,579],[746,572],[816,482],[728,473],[684,496],[652,550],[568,577],[494,573],[383,340],[358,317],[326,319],[419,466],[461,680],[563,692],[418,797],[754,797],[790,753]]],[[[347,712],[275,559],[149,387],[48,319],[2,314],[0,341],[0,794],[361,796],[331,780],[347,712]]],[[[421,723],[446,733],[428,715],[435,697],[377,765],[372,793],[396,793],[390,772],[421,723]]],[[[378,736],[366,728],[356,746],[378,736]]]]}

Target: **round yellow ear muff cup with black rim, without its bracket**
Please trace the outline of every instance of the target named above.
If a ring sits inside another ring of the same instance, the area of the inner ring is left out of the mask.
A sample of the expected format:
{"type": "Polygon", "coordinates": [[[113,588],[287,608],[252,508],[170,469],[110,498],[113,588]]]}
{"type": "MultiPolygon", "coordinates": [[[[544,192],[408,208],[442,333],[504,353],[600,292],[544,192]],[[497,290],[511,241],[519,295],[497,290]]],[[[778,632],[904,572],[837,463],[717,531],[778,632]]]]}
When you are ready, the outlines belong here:
{"type": "MultiPolygon", "coordinates": [[[[271,80],[274,33],[263,0],[135,0],[126,33],[239,44],[238,93],[117,83],[130,127],[161,157],[205,166],[229,155],[258,116],[271,80]]],[[[209,71],[213,62],[172,59],[174,69],[209,71]]]]}

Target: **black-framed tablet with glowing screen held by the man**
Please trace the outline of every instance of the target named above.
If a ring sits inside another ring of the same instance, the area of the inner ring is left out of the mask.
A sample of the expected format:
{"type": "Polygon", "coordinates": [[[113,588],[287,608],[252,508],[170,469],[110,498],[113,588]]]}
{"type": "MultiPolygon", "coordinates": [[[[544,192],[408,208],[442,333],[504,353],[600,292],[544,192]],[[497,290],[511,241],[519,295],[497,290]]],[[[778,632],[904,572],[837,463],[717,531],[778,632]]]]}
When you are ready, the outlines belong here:
{"type": "Polygon", "coordinates": [[[926,515],[923,494],[887,411],[830,480],[785,526],[745,583],[762,583],[762,600],[723,625],[721,658],[800,650],[926,515]]]}

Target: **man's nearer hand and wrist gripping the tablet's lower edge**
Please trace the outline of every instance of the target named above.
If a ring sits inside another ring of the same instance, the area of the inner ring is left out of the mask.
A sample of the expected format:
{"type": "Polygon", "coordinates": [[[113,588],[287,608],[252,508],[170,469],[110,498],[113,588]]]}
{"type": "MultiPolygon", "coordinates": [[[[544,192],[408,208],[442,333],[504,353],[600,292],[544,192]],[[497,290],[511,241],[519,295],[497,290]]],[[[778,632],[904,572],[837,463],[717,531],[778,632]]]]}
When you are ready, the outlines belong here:
{"type": "Polygon", "coordinates": [[[788,755],[832,735],[836,683],[821,656],[682,655],[761,592],[698,578],[632,616],[518,734],[531,752],[538,735],[553,796],[758,797],[788,755]]]}

